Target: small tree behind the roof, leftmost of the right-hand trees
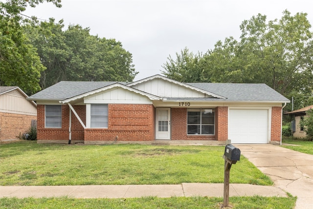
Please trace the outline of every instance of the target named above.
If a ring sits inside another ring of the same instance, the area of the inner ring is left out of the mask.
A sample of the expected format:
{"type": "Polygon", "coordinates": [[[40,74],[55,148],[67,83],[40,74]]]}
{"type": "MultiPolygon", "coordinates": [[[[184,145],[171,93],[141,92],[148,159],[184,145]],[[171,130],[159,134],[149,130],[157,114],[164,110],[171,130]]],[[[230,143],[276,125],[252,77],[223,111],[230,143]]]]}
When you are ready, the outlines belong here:
{"type": "Polygon", "coordinates": [[[200,52],[194,54],[185,47],[180,51],[180,54],[176,52],[176,60],[169,55],[168,61],[162,66],[164,71],[161,72],[166,77],[179,82],[199,82],[201,75],[199,61],[201,57],[200,52]]]}

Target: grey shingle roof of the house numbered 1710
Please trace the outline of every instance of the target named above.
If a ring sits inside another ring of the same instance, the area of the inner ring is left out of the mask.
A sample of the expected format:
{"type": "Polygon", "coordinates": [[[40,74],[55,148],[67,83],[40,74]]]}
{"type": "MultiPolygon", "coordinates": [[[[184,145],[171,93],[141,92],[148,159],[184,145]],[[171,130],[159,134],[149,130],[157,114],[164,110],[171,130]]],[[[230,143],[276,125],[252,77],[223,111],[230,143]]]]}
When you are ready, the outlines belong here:
{"type": "MultiPolygon", "coordinates": [[[[161,75],[152,76],[160,78],[161,75]]],[[[150,78],[150,77],[149,77],[150,78]]],[[[149,80],[149,78],[147,78],[149,80]]],[[[165,78],[165,77],[164,77],[165,78]]],[[[167,80],[171,80],[166,78],[167,80]]],[[[144,82],[145,79],[136,82],[100,82],[100,81],[61,81],[41,92],[29,96],[28,100],[58,100],[62,101],[78,95],[89,93],[104,87],[120,84],[132,87],[137,83],[144,82]]],[[[174,81],[173,82],[177,82],[174,81]]],[[[177,82],[180,83],[180,82],[177,82]]],[[[180,83],[182,86],[189,85],[191,88],[203,90],[216,95],[206,98],[165,98],[167,100],[204,100],[204,101],[266,101],[266,102],[290,102],[290,100],[276,92],[266,84],[237,84],[237,83],[180,83]]]]}

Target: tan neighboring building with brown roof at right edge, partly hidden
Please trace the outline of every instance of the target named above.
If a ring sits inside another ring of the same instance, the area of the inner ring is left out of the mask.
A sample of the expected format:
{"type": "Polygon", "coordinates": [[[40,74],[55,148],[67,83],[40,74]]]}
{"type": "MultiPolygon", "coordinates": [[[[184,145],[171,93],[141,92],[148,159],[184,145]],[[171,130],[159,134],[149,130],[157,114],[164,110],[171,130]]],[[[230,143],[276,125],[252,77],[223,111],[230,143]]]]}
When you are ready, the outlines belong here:
{"type": "Polygon", "coordinates": [[[304,117],[306,117],[306,112],[310,109],[313,109],[313,105],[285,113],[285,115],[294,116],[294,119],[291,122],[293,137],[304,138],[307,136],[307,133],[304,131],[304,127],[300,125],[300,121],[303,120],[304,117]]]}

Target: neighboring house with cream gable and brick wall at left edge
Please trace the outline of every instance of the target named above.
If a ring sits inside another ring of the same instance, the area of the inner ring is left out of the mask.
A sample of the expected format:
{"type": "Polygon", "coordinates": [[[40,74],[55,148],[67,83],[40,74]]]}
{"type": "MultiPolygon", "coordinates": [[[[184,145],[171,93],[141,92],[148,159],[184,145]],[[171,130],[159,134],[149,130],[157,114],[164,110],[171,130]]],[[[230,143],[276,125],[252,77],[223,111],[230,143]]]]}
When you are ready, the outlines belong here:
{"type": "Polygon", "coordinates": [[[37,119],[37,105],[17,86],[0,86],[0,140],[22,137],[37,119]]]}

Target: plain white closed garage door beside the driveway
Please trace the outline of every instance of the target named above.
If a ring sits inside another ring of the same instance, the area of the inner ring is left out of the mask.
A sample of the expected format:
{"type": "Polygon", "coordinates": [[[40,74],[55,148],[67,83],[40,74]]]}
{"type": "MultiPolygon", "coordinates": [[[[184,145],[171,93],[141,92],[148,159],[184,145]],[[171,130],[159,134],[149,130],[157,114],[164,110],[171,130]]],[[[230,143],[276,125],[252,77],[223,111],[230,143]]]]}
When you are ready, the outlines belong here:
{"type": "Polygon", "coordinates": [[[231,143],[268,143],[268,110],[229,110],[231,143]]]}

